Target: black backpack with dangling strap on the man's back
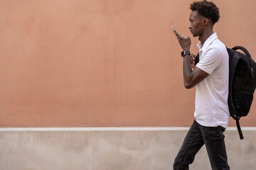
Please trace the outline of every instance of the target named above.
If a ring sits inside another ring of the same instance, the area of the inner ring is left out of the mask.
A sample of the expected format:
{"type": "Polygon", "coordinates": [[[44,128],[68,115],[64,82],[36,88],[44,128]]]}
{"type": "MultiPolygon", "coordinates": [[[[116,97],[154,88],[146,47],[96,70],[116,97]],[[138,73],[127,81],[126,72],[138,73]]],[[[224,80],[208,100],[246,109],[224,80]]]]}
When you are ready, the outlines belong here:
{"type": "MultiPolygon", "coordinates": [[[[243,139],[239,120],[246,116],[252,105],[256,84],[256,64],[245,47],[235,46],[227,48],[229,55],[229,87],[228,108],[230,116],[235,119],[240,139],[243,139]],[[242,50],[238,52],[236,50],[242,50]]],[[[196,55],[196,63],[199,55],[196,55]]]]}

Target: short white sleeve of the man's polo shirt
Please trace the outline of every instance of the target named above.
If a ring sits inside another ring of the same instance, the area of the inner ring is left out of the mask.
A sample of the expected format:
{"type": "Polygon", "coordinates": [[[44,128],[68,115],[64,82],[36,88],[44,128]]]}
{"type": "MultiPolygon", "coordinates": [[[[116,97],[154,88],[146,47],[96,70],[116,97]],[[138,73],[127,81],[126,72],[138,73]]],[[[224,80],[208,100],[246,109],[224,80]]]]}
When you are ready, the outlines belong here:
{"type": "Polygon", "coordinates": [[[223,62],[223,54],[218,48],[209,49],[196,64],[196,67],[211,74],[223,62]]]}

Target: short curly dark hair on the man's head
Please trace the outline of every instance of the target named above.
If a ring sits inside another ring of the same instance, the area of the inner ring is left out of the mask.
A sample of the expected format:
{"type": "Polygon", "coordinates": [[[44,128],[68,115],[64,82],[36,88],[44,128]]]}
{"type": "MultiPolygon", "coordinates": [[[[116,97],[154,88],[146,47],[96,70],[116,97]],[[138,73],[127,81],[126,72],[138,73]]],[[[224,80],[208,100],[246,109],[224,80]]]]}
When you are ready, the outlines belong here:
{"type": "Polygon", "coordinates": [[[213,4],[212,1],[194,1],[191,4],[190,9],[192,11],[198,11],[201,16],[210,19],[213,24],[217,23],[220,18],[219,8],[213,4]]]}

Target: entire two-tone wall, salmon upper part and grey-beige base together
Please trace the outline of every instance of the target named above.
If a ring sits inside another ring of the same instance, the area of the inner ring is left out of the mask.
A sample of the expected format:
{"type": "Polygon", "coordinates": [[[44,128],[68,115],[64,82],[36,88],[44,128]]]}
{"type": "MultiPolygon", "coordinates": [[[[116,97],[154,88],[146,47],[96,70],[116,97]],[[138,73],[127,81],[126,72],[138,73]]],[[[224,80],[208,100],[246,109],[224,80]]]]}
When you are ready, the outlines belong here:
{"type": "MultiPolygon", "coordinates": [[[[256,1],[213,1],[220,40],[256,60],[256,1]]],[[[191,2],[0,0],[0,127],[190,126],[195,89],[171,26],[190,35],[191,2]]],[[[242,126],[253,113],[256,101],[242,126]]],[[[187,131],[1,128],[1,170],[171,169],[187,131]]],[[[229,164],[255,170],[255,130],[243,132],[225,132],[229,164]]],[[[191,169],[210,169],[205,148],[191,169]]]]}

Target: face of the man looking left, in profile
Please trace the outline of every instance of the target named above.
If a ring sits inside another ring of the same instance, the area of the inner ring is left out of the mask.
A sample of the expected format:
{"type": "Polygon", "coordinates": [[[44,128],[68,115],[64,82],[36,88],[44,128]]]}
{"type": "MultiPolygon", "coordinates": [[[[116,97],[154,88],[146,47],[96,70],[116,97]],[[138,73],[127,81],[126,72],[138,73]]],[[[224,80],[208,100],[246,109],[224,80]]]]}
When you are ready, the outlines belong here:
{"type": "Polygon", "coordinates": [[[193,37],[198,37],[203,35],[203,16],[201,16],[198,11],[191,11],[191,15],[189,16],[189,30],[193,37]]]}

